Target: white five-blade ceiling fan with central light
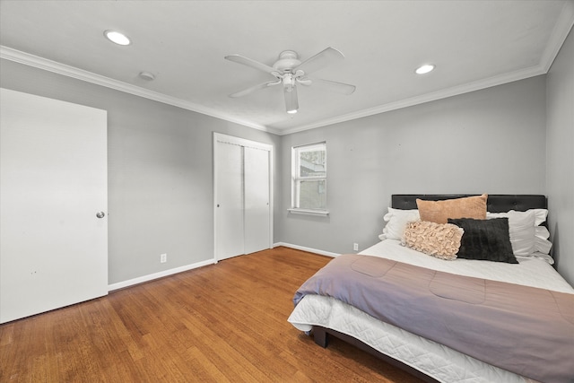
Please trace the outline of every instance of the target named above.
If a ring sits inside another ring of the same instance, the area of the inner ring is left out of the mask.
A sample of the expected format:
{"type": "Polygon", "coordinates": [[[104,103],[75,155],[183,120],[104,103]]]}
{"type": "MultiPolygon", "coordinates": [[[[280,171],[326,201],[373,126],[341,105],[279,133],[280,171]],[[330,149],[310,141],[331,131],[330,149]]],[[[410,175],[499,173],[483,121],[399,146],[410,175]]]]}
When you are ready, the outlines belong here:
{"type": "Polygon", "coordinates": [[[315,72],[326,65],[332,64],[336,61],[343,60],[343,53],[335,48],[326,48],[317,55],[309,57],[307,60],[301,62],[299,55],[294,50],[283,50],[279,54],[279,59],[273,66],[259,63],[248,57],[240,55],[230,55],[225,57],[227,60],[235,63],[251,66],[265,73],[271,74],[275,77],[274,80],[266,83],[259,83],[255,86],[231,93],[230,97],[241,97],[257,91],[265,89],[269,86],[283,85],[283,95],[285,96],[285,107],[287,113],[297,113],[299,109],[299,101],[297,100],[297,85],[304,86],[320,86],[328,91],[336,91],[343,94],[352,94],[355,91],[355,86],[348,83],[337,83],[335,81],[310,79],[308,74],[315,72]]]}

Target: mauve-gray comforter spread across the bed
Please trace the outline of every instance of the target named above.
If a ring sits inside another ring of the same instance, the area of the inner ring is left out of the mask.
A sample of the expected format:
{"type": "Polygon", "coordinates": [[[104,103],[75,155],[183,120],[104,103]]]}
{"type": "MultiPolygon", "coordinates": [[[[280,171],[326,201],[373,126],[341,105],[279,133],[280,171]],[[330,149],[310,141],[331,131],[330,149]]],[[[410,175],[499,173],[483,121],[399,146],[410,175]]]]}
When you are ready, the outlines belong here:
{"type": "Polygon", "coordinates": [[[574,294],[448,274],[385,258],[333,259],[295,293],[374,318],[541,382],[574,382],[574,294]]]}

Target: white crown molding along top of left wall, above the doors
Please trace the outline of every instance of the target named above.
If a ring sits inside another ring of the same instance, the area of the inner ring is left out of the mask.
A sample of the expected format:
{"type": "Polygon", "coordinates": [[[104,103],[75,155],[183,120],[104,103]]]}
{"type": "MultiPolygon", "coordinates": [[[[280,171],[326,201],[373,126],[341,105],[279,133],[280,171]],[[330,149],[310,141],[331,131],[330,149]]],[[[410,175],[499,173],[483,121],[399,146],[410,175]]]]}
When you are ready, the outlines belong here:
{"type": "Polygon", "coordinates": [[[8,48],[0,46],[0,58],[10,60],[23,65],[33,66],[48,72],[55,74],[62,74],[67,77],[72,77],[77,80],[82,80],[87,83],[94,83],[96,85],[105,86],[110,89],[115,89],[117,91],[123,91],[126,93],[134,94],[135,96],[143,97],[145,99],[159,101],[164,104],[172,105],[181,109],[191,110],[197,113],[204,114],[206,116],[211,116],[213,118],[220,118],[225,121],[229,121],[242,126],[252,127],[257,130],[263,130],[268,133],[277,134],[277,130],[269,128],[267,126],[262,126],[259,124],[254,124],[247,120],[242,120],[239,118],[233,118],[226,115],[218,110],[205,108],[204,106],[198,105],[193,102],[188,102],[180,100],[175,97],[166,96],[165,94],[158,93],[156,91],[148,91],[146,89],[140,88],[138,86],[123,83],[109,77],[102,76],[100,74],[93,74],[83,69],[76,68],[74,66],[65,65],[58,63],[56,61],[48,60],[47,58],[38,57],[30,55],[29,53],[22,52],[17,49],[8,48]]]}

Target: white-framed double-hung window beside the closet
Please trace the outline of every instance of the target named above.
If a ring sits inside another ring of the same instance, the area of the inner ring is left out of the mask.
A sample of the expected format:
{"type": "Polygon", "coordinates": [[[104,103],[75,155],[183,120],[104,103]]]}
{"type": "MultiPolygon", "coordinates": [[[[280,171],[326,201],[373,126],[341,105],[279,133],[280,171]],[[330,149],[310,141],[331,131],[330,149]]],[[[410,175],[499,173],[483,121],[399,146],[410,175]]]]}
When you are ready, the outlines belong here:
{"type": "Polygon", "coordinates": [[[291,150],[291,213],[326,215],[326,143],[291,150]]]}

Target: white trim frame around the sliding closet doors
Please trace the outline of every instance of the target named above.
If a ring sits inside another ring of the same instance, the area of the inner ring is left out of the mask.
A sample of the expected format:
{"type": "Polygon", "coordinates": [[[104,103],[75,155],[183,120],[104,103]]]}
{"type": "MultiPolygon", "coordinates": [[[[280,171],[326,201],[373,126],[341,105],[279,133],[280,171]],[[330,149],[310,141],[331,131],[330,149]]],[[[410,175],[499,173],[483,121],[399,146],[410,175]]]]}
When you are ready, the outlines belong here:
{"type": "Polygon", "coordinates": [[[269,153],[269,247],[273,247],[273,214],[274,214],[274,150],[273,145],[258,143],[245,138],[236,137],[234,135],[224,135],[222,133],[213,132],[213,260],[218,262],[217,258],[217,197],[218,197],[218,181],[217,175],[220,164],[218,163],[218,147],[217,144],[236,144],[249,148],[264,150],[269,153]]]}

